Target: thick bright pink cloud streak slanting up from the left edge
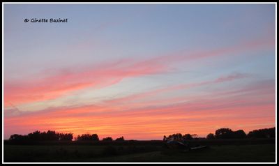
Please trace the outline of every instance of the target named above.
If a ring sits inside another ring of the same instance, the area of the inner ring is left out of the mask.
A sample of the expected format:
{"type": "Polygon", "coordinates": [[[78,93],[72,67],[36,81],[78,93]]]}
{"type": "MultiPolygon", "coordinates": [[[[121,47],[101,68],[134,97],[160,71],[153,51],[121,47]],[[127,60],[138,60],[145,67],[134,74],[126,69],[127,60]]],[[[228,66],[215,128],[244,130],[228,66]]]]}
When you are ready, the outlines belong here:
{"type": "Polygon", "coordinates": [[[84,68],[82,70],[63,70],[49,77],[38,77],[31,80],[17,82],[5,81],[5,104],[29,103],[38,100],[49,100],[66,95],[72,91],[87,87],[102,88],[120,82],[125,77],[161,73],[165,66],[146,64],[139,66],[128,63],[128,59],[115,61],[97,66],[97,68],[84,68]]]}

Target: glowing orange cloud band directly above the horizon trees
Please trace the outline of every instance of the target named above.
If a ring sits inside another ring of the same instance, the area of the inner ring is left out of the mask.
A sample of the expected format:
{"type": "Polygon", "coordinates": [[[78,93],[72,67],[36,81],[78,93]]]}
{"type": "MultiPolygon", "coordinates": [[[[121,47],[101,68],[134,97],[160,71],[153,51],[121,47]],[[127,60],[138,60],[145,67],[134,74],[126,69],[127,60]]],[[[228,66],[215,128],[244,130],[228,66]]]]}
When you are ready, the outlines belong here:
{"type": "MultiPolygon", "coordinates": [[[[208,104],[207,106],[209,106],[208,104]]],[[[275,124],[274,116],[268,113],[274,111],[273,105],[239,107],[237,111],[235,107],[232,109],[224,107],[218,110],[213,108],[195,110],[194,108],[193,106],[178,105],[157,109],[144,108],[137,112],[79,114],[78,116],[70,116],[73,112],[64,110],[63,116],[62,112],[60,115],[52,112],[52,114],[28,116],[28,118],[23,116],[8,118],[5,119],[4,127],[6,133],[10,133],[15,126],[19,126],[26,133],[51,128],[60,132],[75,133],[75,135],[98,133],[101,137],[123,135],[129,139],[160,139],[164,134],[171,133],[196,133],[205,136],[203,133],[212,133],[225,126],[250,130],[255,126],[273,126],[275,124]],[[224,112],[226,113],[224,114],[224,112]],[[252,119],[248,119],[247,116],[252,116],[252,119]]],[[[75,111],[79,112],[79,110],[75,111]]],[[[83,109],[80,108],[80,111],[83,109]]]]}

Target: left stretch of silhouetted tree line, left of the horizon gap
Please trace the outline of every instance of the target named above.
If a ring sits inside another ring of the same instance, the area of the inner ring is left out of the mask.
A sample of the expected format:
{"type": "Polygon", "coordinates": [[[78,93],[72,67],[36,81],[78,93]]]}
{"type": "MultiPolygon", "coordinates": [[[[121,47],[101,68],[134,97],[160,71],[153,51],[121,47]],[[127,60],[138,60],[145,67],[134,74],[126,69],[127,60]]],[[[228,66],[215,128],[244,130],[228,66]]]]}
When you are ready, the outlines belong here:
{"type": "MultiPolygon", "coordinates": [[[[28,135],[10,135],[10,141],[72,141],[73,133],[57,133],[52,130],[40,132],[39,130],[28,135]]],[[[100,141],[97,134],[82,134],[75,137],[76,141],[100,141]]],[[[102,141],[113,141],[112,137],[105,137],[102,141]]],[[[124,137],[116,138],[115,141],[124,141],[124,137]]]]}

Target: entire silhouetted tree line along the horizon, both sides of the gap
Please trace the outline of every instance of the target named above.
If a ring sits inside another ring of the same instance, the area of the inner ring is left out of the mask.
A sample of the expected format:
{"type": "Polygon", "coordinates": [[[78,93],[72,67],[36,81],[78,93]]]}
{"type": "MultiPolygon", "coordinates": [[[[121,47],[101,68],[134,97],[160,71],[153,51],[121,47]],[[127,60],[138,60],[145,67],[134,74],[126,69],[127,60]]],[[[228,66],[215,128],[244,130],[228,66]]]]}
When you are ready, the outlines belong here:
{"type": "MultiPolygon", "coordinates": [[[[230,128],[220,128],[216,130],[215,134],[209,133],[206,138],[203,139],[243,139],[243,138],[273,138],[276,137],[276,128],[263,128],[258,130],[252,130],[247,135],[243,130],[233,131],[230,128]]],[[[196,134],[176,133],[166,137],[163,136],[163,141],[176,140],[190,140],[201,139],[196,134]]],[[[29,133],[28,135],[10,135],[10,141],[72,141],[73,133],[57,133],[54,130],[48,130],[47,132],[40,132],[39,130],[29,133]]],[[[100,141],[97,134],[82,134],[75,137],[76,141],[100,141]]],[[[112,137],[104,137],[102,141],[113,141],[112,137]]],[[[116,138],[114,141],[124,141],[124,137],[116,138]]]]}

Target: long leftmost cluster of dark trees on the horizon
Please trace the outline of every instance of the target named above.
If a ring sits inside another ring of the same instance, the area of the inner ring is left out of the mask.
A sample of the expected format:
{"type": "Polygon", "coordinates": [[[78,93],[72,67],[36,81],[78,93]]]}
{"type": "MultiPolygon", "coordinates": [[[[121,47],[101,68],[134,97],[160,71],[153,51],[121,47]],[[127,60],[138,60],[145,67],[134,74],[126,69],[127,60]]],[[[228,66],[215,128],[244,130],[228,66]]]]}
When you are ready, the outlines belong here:
{"type": "Polygon", "coordinates": [[[73,133],[56,133],[48,130],[47,132],[40,132],[38,130],[28,135],[10,135],[11,141],[30,140],[30,141],[70,141],[73,139],[73,133]]]}

